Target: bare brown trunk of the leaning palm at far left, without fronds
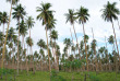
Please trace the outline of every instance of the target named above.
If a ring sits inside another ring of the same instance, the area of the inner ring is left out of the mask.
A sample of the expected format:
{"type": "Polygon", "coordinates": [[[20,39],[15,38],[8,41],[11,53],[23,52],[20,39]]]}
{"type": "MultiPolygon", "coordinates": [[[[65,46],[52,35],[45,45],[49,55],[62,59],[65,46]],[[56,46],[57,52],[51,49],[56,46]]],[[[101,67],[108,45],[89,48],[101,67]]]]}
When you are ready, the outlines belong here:
{"type": "Polygon", "coordinates": [[[1,62],[1,69],[3,68],[3,59],[4,59],[5,44],[7,44],[7,38],[8,38],[8,31],[9,31],[10,21],[11,21],[11,13],[12,13],[12,3],[11,3],[11,10],[10,10],[10,16],[9,16],[8,28],[7,28],[7,35],[5,35],[5,39],[4,39],[4,46],[3,46],[3,49],[2,49],[2,62],[1,62]]]}

